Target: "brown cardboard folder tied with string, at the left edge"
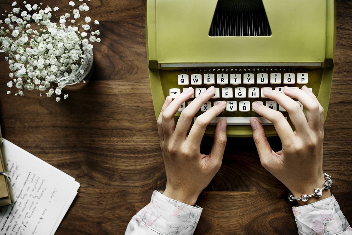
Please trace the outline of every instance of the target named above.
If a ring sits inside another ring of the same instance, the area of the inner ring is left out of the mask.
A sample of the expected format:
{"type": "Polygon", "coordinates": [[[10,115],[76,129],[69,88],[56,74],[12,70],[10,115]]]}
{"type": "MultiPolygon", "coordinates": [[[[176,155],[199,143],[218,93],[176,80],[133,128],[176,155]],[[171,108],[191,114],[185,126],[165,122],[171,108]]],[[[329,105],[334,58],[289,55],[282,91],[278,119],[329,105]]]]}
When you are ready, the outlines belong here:
{"type": "MultiPolygon", "coordinates": [[[[8,174],[7,161],[4,151],[4,141],[2,140],[1,135],[1,126],[0,126],[0,171],[8,174]]],[[[0,206],[11,205],[13,203],[13,194],[11,188],[11,181],[5,175],[0,174],[0,206]]]]}

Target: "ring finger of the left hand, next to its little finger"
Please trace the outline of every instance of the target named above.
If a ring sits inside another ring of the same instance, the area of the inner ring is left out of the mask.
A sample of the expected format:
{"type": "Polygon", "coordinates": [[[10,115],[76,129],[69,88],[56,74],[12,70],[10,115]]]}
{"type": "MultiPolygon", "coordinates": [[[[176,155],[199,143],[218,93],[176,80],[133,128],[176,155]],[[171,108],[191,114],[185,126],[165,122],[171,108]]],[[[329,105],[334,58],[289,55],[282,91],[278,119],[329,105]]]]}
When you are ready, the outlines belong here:
{"type": "Polygon", "coordinates": [[[175,131],[175,119],[174,116],[177,110],[180,108],[181,104],[188,100],[193,93],[193,88],[189,87],[186,91],[178,95],[162,114],[162,125],[163,125],[163,134],[164,138],[171,136],[175,131]]]}

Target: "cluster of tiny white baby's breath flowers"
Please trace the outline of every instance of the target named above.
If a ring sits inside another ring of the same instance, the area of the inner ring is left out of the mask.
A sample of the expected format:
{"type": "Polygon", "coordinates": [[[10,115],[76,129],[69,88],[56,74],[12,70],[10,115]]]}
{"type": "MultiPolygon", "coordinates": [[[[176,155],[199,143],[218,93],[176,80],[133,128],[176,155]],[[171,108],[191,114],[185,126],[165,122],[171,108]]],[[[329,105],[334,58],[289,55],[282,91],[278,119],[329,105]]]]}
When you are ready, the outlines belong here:
{"type": "MultiPolygon", "coordinates": [[[[7,83],[9,88],[13,88],[8,94],[17,91],[15,95],[23,96],[24,89],[45,92],[49,88],[46,96],[53,95],[59,101],[59,95],[63,94],[62,88],[66,86],[60,78],[70,76],[77,82],[82,80],[77,74],[84,73],[80,66],[87,57],[91,57],[89,51],[93,49],[93,45],[90,42],[100,42],[100,38],[96,37],[100,35],[100,31],[92,31],[88,24],[92,19],[88,16],[83,19],[89,7],[86,3],[80,3],[82,1],[76,0],[77,6],[80,5],[78,9],[72,9],[75,2],[70,1],[70,13],[62,16],[51,14],[53,10],[57,13],[58,7],[40,8],[37,4],[31,6],[25,1],[24,7],[17,7],[17,2],[13,2],[12,12],[5,11],[5,20],[0,20],[0,51],[8,54],[5,59],[13,71],[9,76],[15,77],[7,83]],[[70,17],[73,19],[70,20],[70,17]],[[8,29],[5,30],[3,23],[8,29]],[[84,38],[87,35],[90,35],[89,39],[84,38]],[[57,86],[54,87],[52,82],[57,86]]],[[[99,21],[95,20],[94,24],[99,24],[99,21]]],[[[66,99],[68,95],[63,94],[63,97],[66,99]]]]}

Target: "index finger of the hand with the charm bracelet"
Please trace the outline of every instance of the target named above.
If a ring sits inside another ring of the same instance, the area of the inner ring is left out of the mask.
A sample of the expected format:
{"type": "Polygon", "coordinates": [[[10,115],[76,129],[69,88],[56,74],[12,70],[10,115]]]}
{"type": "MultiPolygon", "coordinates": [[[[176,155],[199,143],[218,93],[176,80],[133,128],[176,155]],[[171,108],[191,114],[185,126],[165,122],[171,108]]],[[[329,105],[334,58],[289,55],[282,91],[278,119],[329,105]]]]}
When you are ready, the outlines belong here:
{"type": "Polygon", "coordinates": [[[282,115],[281,112],[272,110],[264,105],[254,102],[252,103],[252,108],[259,115],[263,116],[274,124],[275,130],[279,135],[283,146],[288,146],[296,140],[296,135],[294,134],[290,124],[287,122],[286,118],[282,115]]]}

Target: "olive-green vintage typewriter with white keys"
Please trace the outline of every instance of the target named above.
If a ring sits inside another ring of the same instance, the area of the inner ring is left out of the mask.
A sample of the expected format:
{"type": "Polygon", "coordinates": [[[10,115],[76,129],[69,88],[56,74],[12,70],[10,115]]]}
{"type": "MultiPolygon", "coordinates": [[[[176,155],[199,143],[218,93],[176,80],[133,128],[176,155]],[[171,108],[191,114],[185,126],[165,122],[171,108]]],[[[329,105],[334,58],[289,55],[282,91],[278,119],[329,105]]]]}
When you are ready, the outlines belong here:
{"type": "Polygon", "coordinates": [[[206,135],[213,135],[216,123],[225,118],[228,137],[250,137],[249,119],[254,117],[267,136],[275,136],[272,123],[251,103],[280,111],[290,122],[262,89],[306,85],[323,106],[325,120],[335,38],[334,0],[147,0],[147,61],[156,118],[167,96],[176,98],[190,86],[195,90],[176,113],[177,122],[198,94],[215,86],[196,117],[221,100],[227,104],[206,135]]]}

